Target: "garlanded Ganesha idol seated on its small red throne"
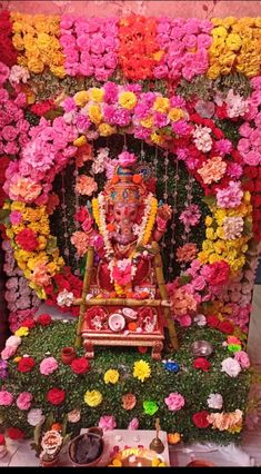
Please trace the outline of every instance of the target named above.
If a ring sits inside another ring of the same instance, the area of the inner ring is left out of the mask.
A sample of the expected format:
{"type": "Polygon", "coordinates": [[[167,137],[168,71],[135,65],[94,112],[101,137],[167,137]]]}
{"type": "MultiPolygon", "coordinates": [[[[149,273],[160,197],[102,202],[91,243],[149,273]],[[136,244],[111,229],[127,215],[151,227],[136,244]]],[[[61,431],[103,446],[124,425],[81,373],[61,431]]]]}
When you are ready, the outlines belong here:
{"type": "Polygon", "coordinates": [[[158,243],[171,208],[158,205],[137,169],[137,157],[123,151],[112,178],[92,200],[100,245],[92,260],[89,250],[79,303],[80,334],[90,357],[93,345],[152,346],[153,358],[160,358],[163,347],[169,303],[158,243]]]}

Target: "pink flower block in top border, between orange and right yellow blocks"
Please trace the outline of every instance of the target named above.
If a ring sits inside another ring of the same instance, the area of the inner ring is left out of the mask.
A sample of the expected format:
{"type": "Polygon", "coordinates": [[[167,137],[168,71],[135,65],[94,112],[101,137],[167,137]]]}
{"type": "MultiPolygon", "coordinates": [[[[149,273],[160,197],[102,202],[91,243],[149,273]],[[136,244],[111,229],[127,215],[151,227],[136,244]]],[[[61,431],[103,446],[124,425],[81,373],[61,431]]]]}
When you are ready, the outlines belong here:
{"type": "Polygon", "coordinates": [[[157,41],[165,52],[154,68],[157,79],[193,79],[209,68],[208,49],[212,43],[212,23],[195,18],[163,17],[157,26],[157,41]]]}

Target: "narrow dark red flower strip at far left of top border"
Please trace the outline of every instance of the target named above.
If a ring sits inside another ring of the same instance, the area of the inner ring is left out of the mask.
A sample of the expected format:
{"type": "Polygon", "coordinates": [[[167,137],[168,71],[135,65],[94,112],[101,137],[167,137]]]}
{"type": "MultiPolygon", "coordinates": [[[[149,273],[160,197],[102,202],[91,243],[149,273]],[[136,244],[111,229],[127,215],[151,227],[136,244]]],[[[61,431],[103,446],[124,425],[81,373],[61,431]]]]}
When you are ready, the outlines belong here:
{"type": "Polygon", "coordinates": [[[12,23],[9,11],[0,13],[0,61],[11,68],[17,65],[18,53],[12,45],[12,23]]]}

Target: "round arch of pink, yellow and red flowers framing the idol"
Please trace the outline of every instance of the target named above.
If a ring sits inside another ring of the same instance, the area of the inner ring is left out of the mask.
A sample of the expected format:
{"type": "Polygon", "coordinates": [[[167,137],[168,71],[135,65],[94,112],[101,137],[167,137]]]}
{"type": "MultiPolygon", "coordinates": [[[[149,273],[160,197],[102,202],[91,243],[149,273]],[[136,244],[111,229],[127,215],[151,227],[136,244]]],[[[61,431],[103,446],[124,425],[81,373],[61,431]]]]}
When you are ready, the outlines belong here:
{"type": "MultiPolygon", "coordinates": [[[[220,115],[225,107],[230,113],[237,113],[234,98],[230,93],[221,101],[220,115]]],[[[30,132],[20,160],[10,164],[4,184],[11,199],[6,205],[10,211],[7,235],[12,239],[19,267],[38,296],[57,304],[59,287],[79,296],[79,278],[64,268],[56,238],[50,235],[49,214],[58,204],[52,194],[54,177],[72,158],[80,168],[90,158],[90,141],[97,137],[131,134],[174,154],[203,187],[210,210],[205,239],[178,285],[183,286],[181,299],[187,287],[197,304],[215,299],[220,285],[237,276],[245,264],[252,236],[252,205],[248,186],[241,182],[245,161],[209,118],[211,113],[204,102],[142,92],[139,85],[107,82],[73,97],[60,97],[58,105],[60,116],[52,122],[41,118],[30,132]],[[191,279],[197,280],[198,287],[192,288],[191,279]]],[[[241,99],[239,113],[247,109],[248,101],[241,99]]],[[[89,196],[97,190],[93,178],[87,176],[79,176],[77,186],[89,196]]],[[[81,244],[80,251],[86,249],[81,244]]],[[[189,306],[185,309],[188,313],[189,306]]]]}

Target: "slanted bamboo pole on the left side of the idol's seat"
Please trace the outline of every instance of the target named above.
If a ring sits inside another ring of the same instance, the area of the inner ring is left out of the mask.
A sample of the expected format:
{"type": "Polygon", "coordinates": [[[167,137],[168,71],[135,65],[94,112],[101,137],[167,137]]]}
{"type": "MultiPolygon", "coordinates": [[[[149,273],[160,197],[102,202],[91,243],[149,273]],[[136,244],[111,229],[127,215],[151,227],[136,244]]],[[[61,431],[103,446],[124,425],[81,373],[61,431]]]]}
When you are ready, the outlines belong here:
{"type": "Polygon", "coordinates": [[[81,303],[80,303],[80,315],[77,325],[77,337],[74,342],[76,347],[81,346],[81,327],[83,324],[86,308],[87,308],[87,294],[91,283],[92,268],[93,268],[93,258],[94,258],[94,248],[89,247],[87,251],[87,263],[84,269],[83,285],[82,285],[82,294],[81,294],[81,303]]]}

